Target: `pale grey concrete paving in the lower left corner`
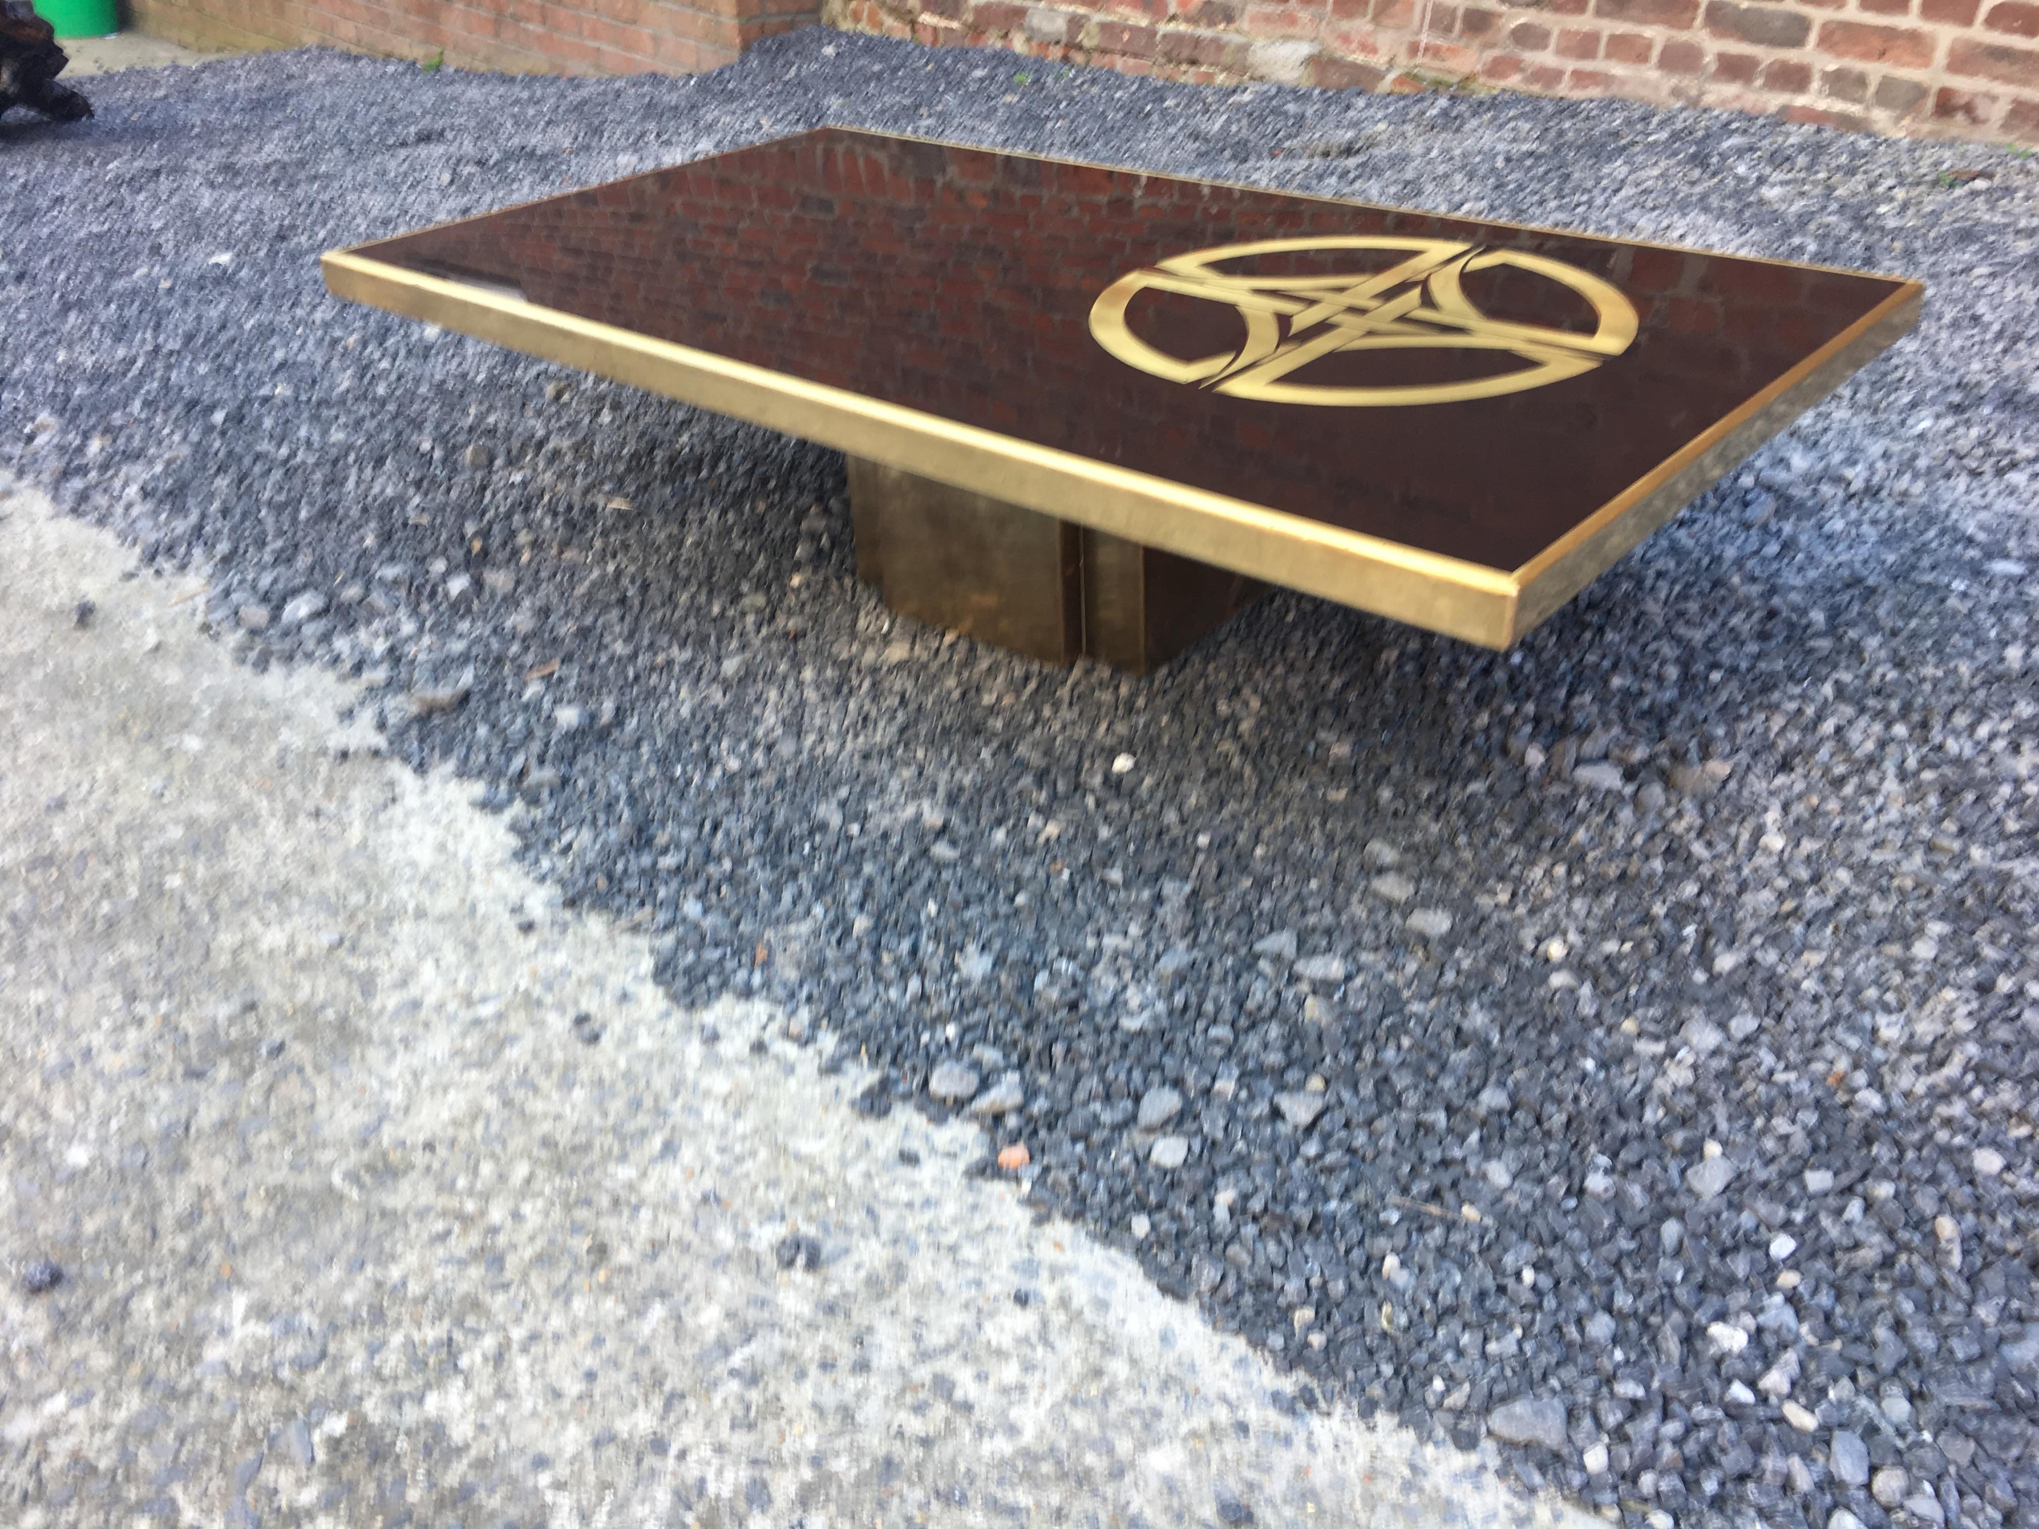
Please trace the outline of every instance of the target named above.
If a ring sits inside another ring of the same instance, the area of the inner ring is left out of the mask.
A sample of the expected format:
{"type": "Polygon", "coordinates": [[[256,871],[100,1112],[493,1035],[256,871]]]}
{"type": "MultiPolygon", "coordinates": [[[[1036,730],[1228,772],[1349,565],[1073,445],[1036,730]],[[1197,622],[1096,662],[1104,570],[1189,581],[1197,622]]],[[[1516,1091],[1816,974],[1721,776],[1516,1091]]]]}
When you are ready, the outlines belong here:
{"type": "Polygon", "coordinates": [[[1570,1517],[1293,1415],[126,569],[0,483],[0,1523],[1570,1517]]]}

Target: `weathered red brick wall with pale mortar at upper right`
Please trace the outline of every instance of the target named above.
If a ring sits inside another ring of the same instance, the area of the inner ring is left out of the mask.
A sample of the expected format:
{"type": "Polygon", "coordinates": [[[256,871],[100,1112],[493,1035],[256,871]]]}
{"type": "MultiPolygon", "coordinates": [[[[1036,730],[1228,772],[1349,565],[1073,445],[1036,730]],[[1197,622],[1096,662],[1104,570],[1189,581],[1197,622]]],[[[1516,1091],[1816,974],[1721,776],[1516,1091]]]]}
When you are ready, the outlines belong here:
{"type": "Polygon", "coordinates": [[[1172,80],[1503,86],[2039,143],[2039,0],[826,0],[826,16],[1172,80]]]}

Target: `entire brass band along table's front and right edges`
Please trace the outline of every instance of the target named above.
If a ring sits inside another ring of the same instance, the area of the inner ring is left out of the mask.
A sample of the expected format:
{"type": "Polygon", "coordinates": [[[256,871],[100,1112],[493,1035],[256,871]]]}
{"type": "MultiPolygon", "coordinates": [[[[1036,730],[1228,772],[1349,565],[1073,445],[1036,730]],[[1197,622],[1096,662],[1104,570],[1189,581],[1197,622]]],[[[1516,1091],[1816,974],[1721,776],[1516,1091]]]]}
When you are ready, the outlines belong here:
{"type": "Polygon", "coordinates": [[[320,269],[334,296],[369,308],[1486,648],[1507,648],[1525,636],[1668,522],[1698,489],[1902,336],[1919,320],[1925,292],[1917,281],[1900,285],[1564,538],[1505,573],[540,308],[495,289],[422,275],[355,251],[324,255],[320,269]]]}

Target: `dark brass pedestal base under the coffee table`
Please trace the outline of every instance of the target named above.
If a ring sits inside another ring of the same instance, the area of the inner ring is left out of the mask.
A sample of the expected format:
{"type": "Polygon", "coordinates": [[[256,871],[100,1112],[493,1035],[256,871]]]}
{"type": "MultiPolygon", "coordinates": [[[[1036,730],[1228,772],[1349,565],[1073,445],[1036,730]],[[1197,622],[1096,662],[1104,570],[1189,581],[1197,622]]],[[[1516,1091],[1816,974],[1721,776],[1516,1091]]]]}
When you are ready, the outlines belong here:
{"type": "Polygon", "coordinates": [[[1266,585],[850,457],[856,577],[901,616],[1052,665],[1158,669],[1266,585]]]}

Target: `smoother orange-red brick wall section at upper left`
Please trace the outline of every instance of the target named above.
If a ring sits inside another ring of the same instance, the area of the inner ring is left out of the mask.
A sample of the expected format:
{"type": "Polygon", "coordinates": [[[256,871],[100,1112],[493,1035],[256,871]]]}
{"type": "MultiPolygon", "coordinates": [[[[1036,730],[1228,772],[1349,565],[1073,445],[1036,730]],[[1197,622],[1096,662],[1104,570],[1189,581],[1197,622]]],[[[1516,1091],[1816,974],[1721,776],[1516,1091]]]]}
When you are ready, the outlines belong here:
{"type": "Polygon", "coordinates": [[[714,69],[820,20],[818,0],[128,0],[128,12],[200,47],[326,43],[518,73],[714,69]]]}

